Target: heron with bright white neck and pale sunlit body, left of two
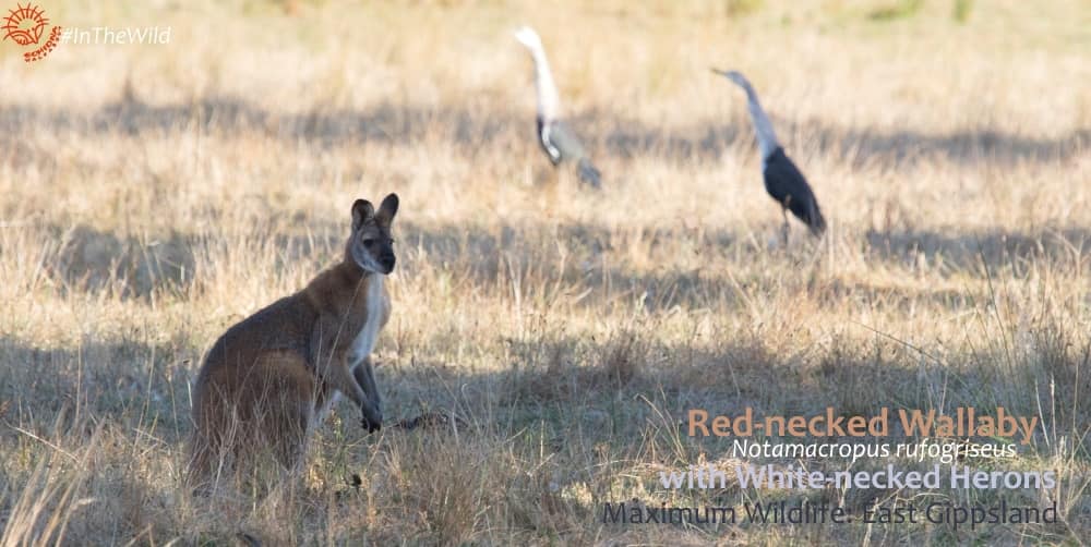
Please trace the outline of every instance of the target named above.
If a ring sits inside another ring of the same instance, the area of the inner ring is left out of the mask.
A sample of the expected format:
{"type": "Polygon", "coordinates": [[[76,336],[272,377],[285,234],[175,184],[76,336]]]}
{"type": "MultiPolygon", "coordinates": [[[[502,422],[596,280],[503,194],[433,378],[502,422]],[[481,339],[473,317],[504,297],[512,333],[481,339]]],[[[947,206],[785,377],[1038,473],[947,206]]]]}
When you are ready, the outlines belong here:
{"type": "Polygon", "coordinates": [[[546,49],[538,33],[529,26],[521,26],[515,32],[515,39],[530,50],[535,61],[535,87],[538,90],[538,144],[549,157],[554,167],[562,162],[576,163],[579,180],[599,189],[602,186],[602,174],[591,162],[579,137],[573,133],[561,119],[561,98],[553,83],[553,74],[549,70],[546,49]]]}

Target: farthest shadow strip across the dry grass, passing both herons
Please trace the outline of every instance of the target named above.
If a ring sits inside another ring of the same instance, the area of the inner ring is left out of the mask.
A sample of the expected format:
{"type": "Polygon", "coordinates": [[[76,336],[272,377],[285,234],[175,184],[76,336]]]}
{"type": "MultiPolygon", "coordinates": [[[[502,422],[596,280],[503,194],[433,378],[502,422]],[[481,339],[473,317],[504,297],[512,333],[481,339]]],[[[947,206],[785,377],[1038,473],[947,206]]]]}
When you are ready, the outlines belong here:
{"type": "MultiPolygon", "coordinates": [[[[698,119],[663,130],[608,110],[590,110],[572,120],[596,155],[621,158],[656,157],[688,160],[715,159],[740,139],[752,138],[747,122],[698,119]],[[597,134],[595,127],[609,127],[597,134]]],[[[942,159],[958,163],[980,161],[1015,165],[1057,161],[1083,154],[1091,129],[1056,139],[1009,135],[997,131],[932,135],[913,131],[880,132],[866,127],[839,127],[822,122],[778,121],[784,134],[803,135],[820,153],[852,165],[882,162],[907,165],[942,159]]],[[[299,114],[268,111],[243,99],[214,96],[191,104],[149,105],[130,98],[91,112],[44,110],[27,106],[0,107],[0,145],[15,150],[11,161],[35,160],[34,150],[21,145],[20,135],[32,131],[75,132],[88,137],[108,133],[142,135],[177,131],[217,131],[228,135],[257,133],[324,146],[338,143],[413,145],[436,131],[459,143],[475,156],[490,146],[532,144],[530,112],[490,107],[422,108],[381,104],[368,110],[327,109],[299,114]],[[20,151],[20,149],[22,151],[20,151]]],[[[756,153],[755,153],[756,154],[756,153]]],[[[39,158],[48,159],[48,158],[39,158]]]]}

